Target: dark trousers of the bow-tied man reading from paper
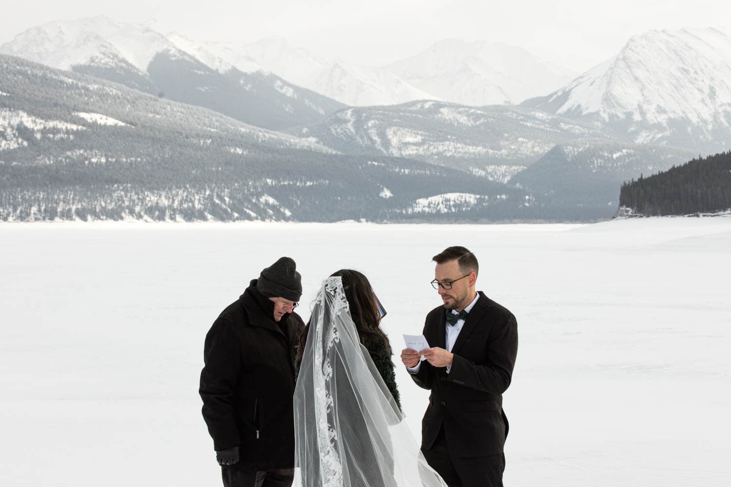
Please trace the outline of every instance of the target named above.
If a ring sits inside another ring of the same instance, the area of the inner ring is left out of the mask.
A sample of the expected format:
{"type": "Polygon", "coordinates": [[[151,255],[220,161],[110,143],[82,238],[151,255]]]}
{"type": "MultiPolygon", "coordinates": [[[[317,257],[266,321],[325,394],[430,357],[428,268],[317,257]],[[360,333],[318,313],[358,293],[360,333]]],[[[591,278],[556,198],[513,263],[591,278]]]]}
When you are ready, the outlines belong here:
{"type": "Polygon", "coordinates": [[[505,455],[463,458],[450,455],[444,426],[428,450],[422,450],[424,458],[436,473],[442,475],[449,487],[503,487],[505,455]]]}

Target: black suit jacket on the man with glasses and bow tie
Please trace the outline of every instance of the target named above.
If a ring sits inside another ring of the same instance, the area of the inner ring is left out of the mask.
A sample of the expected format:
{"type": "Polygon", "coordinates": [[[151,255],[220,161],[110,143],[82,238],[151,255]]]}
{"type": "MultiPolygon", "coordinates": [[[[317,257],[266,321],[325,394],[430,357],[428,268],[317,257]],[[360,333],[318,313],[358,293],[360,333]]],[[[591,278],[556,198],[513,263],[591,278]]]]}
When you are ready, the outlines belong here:
{"type": "MultiPolygon", "coordinates": [[[[447,348],[445,312],[440,306],[426,315],[424,336],[431,347],[447,348]]],[[[454,456],[502,453],[508,432],[502,393],[510,386],[517,352],[515,316],[480,291],[452,347],[450,373],[423,361],[412,374],[418,386],[431,390],[422,421],[423,449],[431,448],[444,425],[454,456]]]]}

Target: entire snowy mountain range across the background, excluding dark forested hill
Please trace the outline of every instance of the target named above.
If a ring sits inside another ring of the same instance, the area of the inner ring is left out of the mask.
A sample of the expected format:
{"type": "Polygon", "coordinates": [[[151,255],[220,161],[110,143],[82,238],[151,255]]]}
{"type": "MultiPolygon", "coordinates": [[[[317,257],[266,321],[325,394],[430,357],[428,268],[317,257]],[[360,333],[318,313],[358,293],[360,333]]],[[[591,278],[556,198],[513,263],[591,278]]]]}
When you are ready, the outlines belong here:
{"type": "Polygon", "coordinates": [[[0,53],[3,219],[587,221],[625,180],[731,146],[718,29],[632,37],[569,83],[495,43],[363,67],[103,17],[0,53]]]}

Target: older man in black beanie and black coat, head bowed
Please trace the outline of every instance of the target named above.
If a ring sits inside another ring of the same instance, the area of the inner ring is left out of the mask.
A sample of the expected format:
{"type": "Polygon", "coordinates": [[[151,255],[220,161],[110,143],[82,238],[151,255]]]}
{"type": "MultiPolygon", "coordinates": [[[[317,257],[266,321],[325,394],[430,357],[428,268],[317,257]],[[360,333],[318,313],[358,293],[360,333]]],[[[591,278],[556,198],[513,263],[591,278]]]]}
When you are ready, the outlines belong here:
{"type": "Polygon", "coordinates": [[[304,323],[295,261],[262,270],[205,336],[203,418],[226,487],[289,487],[294,480],[295,345],[304,323]]]}

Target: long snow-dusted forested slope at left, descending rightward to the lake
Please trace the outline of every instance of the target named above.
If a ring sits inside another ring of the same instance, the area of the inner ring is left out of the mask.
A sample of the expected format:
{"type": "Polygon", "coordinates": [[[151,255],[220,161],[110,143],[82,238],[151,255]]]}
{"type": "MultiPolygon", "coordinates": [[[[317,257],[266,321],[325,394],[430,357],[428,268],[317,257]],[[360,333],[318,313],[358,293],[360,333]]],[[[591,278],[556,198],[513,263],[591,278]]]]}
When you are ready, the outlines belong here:
{"type": "Polygon", "coordinates": [[[0,220],[509,221],[525,191],[0,55],[0,220]]]}

